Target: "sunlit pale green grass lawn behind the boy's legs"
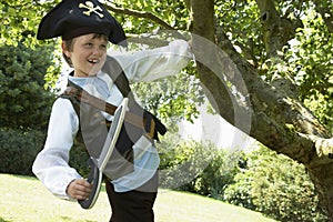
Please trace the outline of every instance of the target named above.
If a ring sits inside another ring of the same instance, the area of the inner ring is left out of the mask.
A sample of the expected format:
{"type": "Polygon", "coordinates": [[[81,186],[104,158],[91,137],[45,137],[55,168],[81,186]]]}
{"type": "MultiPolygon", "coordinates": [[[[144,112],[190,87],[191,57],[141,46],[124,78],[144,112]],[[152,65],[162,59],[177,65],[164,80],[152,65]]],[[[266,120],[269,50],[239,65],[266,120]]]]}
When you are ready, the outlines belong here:
{"type": "MultiPolygon", "coordinates": [[[[34,178],[0,174],[0,222],[103,222],[111,215],[104,188],[90,210],[57,199],[34,178]]],[[[170,190],[159,191],[154,211],[157,222],[274,222],[221,201],[170,190]]]]}

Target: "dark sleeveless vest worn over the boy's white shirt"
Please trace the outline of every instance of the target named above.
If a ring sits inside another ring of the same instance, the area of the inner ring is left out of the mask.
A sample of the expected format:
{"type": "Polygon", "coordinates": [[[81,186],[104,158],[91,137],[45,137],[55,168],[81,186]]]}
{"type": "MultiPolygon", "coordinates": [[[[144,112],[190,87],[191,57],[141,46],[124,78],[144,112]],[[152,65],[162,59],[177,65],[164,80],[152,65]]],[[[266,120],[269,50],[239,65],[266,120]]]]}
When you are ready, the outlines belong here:
{"type": "MultiPolygon", "coordinates": [[[[102,71],[110,75],[114,84],[121,91],[122,95],[124,98],[129,98],[130,112],[142,117],[142,120],[148,120],[145,121],[145,124],[149,124],[151,119],[154,120],[155,129],[153,139],[159,140],[158,134],[164,134],[167,132],[167,128],[155,115],[141,108],[134,100],[129,85],[129,80],[125,77],[121,65],[113,58],[108,57],[102,71]]],[[[80,88],[71,81],[69,81],[68,85],[80,88]]],[[[60,97],[71,101],[79,118],[80,127],[77,139],[84,143],[91,157],[98,159],[111,123],[101,114],[100,110],[80,102],[77,98],[67,94],[61,94],[60,97]]],[[[144,127],[150,129],[150,125],[144,127]]],[[[111,154],[111,158],[103,172],[109,179],[115,180],[134,170],[132,147],[145,133],[147,132],[144,130],[137,128],[131,123],[123,123],[115,149],[113,150],[113,153],[111,154]]]]}

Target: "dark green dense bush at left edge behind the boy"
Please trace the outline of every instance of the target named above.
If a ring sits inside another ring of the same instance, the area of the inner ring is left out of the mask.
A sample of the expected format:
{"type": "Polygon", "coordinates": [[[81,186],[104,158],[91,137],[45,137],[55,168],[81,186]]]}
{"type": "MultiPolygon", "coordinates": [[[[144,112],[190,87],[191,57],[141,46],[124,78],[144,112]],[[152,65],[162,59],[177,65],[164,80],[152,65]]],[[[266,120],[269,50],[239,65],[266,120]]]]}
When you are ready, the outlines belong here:
{"type": "Polygon", "coordinates": [[[19,43],[0,51],[0,122],[13,129],[46,129],[53,95],[44,89],[49,48],[19,43]]]}

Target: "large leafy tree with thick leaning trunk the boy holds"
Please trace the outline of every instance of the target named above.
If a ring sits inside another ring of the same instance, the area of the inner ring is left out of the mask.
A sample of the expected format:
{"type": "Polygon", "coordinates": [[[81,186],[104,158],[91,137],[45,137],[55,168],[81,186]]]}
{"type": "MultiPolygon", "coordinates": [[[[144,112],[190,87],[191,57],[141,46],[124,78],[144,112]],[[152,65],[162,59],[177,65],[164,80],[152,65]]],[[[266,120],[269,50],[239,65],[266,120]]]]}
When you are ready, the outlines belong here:
{"type": "MultiPolygon", "coordinates": [[[[1,34],[20,36],[21,26],[34,23],[28,29],[33,39],[47,2],[10,3],[34,13],[19,17],[21,23],[2,18],[18,29],[1,26],[1,34]]],[[[105,2],[129,37],[169,29],[186,39],[182,31],[190,31],[196,77],[214,110],[265,147],[304,164],[333,221],[332,1],[105,2]],[[212,53],[202,53],[208,49],[212,53]]],[[[0,7],[10,8],[2,1],[0,7]]]]}

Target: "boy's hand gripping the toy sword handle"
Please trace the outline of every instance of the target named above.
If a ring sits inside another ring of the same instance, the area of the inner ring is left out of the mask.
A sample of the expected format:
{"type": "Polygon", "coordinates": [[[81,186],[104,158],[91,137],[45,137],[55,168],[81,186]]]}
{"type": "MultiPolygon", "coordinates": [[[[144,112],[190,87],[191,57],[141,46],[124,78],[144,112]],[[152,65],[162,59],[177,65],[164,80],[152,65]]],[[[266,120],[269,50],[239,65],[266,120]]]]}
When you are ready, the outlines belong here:
{"type": "Polygon", "coordinates": [[[67,186],[67,193],[77,200],[85,200],[91,193],[92,185],[85,179],[75,179],[67,186]]]}

